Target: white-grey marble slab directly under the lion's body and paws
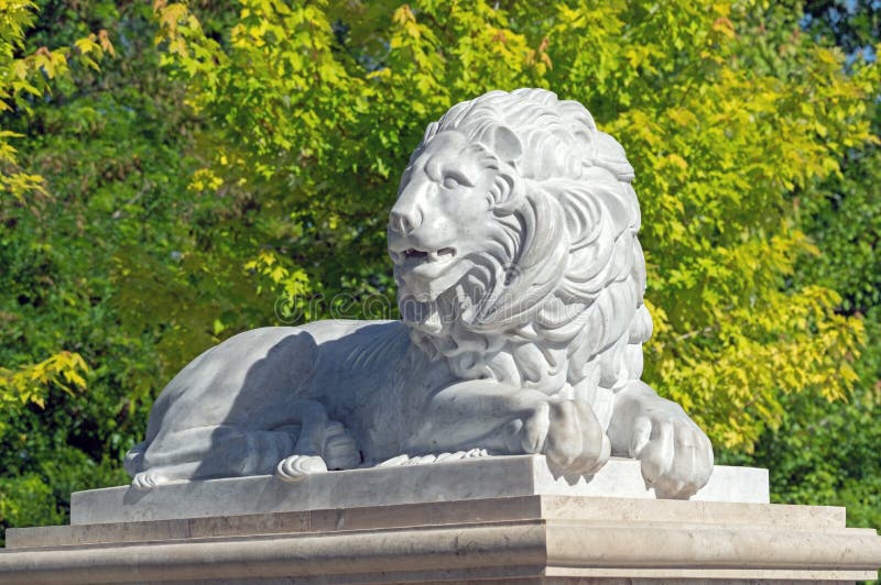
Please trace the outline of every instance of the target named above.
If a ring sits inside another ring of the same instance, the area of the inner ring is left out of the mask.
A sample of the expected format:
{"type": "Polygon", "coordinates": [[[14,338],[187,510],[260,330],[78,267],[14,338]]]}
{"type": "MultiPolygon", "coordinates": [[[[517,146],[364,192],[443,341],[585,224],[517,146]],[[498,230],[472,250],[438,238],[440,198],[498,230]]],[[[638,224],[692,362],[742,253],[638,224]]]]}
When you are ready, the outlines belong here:
{"type": "MultiPolygon", "coordinates": [[[[613,457],[589,482],[555,476],[542,455],[478,457],[314,474],[180,482],[152,490],[112,487],[74,493],[70,522],[91,525],[322,508],[472,500],[532,495],[655,498],[639,462],[613,457]]],[[[766,504],[768,471],[717,466],[694,500],[766,504]]]]}

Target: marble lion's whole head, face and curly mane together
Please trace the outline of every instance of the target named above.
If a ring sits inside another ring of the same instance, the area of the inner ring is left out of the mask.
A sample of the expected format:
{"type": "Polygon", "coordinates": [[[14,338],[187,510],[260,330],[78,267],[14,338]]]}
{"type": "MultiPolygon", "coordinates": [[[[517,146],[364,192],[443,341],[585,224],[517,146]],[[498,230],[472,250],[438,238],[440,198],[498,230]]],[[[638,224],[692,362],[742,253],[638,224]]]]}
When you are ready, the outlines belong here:
{"type": "Polygon", "coordinates": [[[454,106],[425,131],[389,220],[413,341],[461,378],[596,410],[599,390],[639,378],[651,335],[632,179],[578,102],[519,89],[454,106]]]}

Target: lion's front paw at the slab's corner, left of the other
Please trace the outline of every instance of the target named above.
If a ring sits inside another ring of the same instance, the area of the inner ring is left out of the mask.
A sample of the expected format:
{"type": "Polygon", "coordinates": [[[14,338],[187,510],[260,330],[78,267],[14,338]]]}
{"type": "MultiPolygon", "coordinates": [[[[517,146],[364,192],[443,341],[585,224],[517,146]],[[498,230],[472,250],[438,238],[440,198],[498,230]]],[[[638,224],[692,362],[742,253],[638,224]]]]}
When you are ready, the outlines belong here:
{"type": "Polygon", "coordinates": [[[589,405],[548,400],[523,422],[523,448],[543,453],[564,474],[594,475],[609,459],[611,443],[589,405]]]}

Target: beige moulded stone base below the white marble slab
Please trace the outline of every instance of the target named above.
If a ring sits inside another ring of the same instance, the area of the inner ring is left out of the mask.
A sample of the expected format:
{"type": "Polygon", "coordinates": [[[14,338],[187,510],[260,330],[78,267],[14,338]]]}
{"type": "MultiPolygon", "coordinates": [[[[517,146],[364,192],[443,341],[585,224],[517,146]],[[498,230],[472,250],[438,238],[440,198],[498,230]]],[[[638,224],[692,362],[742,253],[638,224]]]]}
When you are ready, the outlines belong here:
{"type": "Polygon", "coordinates": [[[877,578],[844,508],[520,496],[10,530],[2,583],[877,578]]]}

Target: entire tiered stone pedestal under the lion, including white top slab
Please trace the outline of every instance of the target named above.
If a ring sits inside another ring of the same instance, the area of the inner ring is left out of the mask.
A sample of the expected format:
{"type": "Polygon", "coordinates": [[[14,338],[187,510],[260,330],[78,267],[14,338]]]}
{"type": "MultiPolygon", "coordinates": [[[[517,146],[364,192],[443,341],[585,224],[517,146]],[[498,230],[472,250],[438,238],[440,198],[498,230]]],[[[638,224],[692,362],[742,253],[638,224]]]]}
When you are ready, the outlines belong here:
{"type": "Polygon", "coordinates": [[[713,497],[711,483],[703,500],[655,500],[628,484],[631,463],[577,483],[524,456],[80,493],[72,526],[8,531],[0,582],[877,578],[881,538],[845,528],[844,508],[761,503],[761,470],[725,467],[713,497]],[[627,497],[602,496],[614,477],[627,497]],[[428,479],[434,490],[421,488],[428,479]],[[751,501],[718,501],[726,485],[751,501]]]}

